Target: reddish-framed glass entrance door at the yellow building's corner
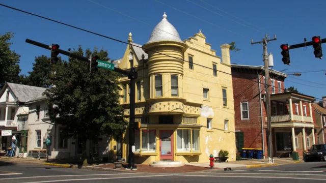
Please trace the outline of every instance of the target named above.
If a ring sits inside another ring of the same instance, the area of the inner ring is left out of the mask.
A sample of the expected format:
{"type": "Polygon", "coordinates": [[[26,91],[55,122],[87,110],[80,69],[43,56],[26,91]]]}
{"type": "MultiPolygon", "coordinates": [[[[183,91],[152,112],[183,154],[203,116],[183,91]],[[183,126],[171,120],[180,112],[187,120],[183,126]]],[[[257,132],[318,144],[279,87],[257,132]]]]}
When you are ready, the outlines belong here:
{"type": "Polygon", "coordinates": [[[161,160],[173,161],[173,131],[159,131],[159,154],[161,160]]]}

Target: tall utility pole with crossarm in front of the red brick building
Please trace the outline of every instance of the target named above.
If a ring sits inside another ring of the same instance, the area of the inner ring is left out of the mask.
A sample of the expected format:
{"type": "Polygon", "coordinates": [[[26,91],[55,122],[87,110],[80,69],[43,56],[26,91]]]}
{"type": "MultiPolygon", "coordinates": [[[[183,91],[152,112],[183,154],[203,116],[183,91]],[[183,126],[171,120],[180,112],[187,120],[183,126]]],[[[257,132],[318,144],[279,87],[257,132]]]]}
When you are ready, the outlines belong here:
{"type": "MultiPolygon", "coordinates": [[[[273,153],[272,153],[272,144],[271,144],[271,124],[270,124],[270,95],[269,95],[269,68],[268,68],[268,53],[267,53],[267,43],[269,41],[276,40],[276,35],[273,39],[268,39],[268,35],[265,35],[262,41],[253,42],[251,40],[251,44],[262,43],[263,44],[263,60],[264,60],[264,67],[265,67],[265,93],[266,93],[266,114],[267,114],[267,140],[268,140],[268,162],[274,163],[273,160],[273,153]]],[[[264,142],[263,142],[264,143],[264,142]]]]}

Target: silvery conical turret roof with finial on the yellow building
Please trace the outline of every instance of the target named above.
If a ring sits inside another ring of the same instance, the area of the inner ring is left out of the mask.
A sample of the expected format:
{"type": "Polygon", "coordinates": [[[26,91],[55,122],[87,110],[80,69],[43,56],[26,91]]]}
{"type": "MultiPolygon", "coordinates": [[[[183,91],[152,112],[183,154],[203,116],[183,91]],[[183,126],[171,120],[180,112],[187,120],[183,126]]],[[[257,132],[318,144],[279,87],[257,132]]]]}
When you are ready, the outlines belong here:
{"type": "Polygon", "coordinates": [[[177,29],[168,21],[167,17],[164,13],[163,19],[155,26],[147,43],[156,41],[182,42],[177,29]]]}

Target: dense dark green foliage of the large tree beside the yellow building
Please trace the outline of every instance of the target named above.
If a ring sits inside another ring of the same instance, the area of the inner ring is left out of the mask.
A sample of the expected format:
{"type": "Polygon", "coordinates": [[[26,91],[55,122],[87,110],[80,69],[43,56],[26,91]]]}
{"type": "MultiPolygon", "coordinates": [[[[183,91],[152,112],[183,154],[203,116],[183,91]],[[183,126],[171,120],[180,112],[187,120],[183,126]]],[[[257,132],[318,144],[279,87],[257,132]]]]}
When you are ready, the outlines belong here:
{"type": "MultiPolygon", "coordinates": [[[[83,55],[81,47],[74,53],[83,55]]],[[[98,55],[108,60],[104,50],[93,53],[86,50],[86,57],[98,55]]],[[[124,132],[126,121],[119,104],[119,75],[113,71],[98,69],[89,72],[89,63],[69,58],[69,62],[51,65],[49,82],[53,87],[46,90],[51,121],[67,127],[71,136],[96,141],[99,135],[114,136],[124,132]]]]}

